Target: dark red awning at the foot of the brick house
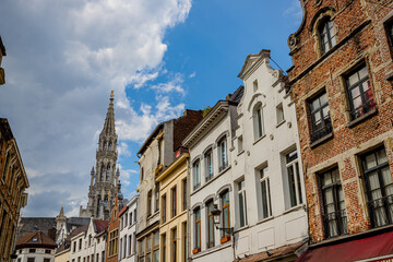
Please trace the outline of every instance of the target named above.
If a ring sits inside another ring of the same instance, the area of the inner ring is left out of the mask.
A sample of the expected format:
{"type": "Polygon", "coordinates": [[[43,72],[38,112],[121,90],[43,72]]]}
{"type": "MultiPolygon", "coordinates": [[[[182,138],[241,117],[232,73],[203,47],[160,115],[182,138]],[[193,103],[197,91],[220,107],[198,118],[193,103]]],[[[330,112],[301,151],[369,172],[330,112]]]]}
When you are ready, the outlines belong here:
{"type": "Polygon", "coordinates": [[[393,261],[390,257],[393,258],[393,231],[309,249],[296,262],[393,261]]]}

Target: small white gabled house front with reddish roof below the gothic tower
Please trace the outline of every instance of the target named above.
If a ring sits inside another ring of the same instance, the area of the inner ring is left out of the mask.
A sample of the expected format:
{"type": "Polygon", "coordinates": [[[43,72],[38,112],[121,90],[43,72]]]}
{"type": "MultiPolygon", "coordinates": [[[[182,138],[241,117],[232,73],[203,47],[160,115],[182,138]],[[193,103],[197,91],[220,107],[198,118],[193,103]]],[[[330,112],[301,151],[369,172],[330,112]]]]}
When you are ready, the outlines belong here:
{"type": "Polygon", "coordinates": [[[70,262],[105,262],[107,221],[91,218],[86,230],[71,238],[70,262]]]}

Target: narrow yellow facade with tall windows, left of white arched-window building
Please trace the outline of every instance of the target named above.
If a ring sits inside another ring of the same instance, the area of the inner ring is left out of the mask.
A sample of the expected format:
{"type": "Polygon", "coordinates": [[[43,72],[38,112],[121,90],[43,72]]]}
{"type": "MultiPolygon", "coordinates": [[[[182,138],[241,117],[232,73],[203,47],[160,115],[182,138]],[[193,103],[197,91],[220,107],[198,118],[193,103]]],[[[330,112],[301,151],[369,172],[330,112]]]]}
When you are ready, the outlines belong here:
{"type": "Polygon", "coordinates": [[[159,182],[159,245],[160,261],[187,261],[188,258],[188,181],[190,155],[181,153],[157,178],[159,182]],[[175,257],[175,258],[174,258],[175,257]]]}

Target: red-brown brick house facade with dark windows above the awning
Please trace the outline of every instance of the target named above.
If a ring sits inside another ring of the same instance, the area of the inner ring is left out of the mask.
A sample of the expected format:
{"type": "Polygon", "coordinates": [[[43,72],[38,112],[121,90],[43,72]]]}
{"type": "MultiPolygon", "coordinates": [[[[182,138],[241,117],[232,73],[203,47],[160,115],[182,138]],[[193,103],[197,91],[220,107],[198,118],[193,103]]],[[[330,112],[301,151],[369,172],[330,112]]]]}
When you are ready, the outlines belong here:
{"type": "Polygon", "coordinates": [[[391,230],[392,1],[300,2],[303,20],[288,39],[288,75],[311,247],[391,230]]]}

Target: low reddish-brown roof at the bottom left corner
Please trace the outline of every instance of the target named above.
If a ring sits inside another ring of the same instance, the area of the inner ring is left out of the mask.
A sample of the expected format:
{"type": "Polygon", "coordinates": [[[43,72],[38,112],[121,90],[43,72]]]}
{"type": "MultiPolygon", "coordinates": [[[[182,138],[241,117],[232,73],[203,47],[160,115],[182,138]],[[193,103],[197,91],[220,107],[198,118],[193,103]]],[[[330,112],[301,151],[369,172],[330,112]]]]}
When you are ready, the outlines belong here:
{"type": "Polygon", "coordinates": [[[38,230],[26,234],[16,239],[15,249],[22,249],[28,247],[55,249],[57,247],[57,243],[50,237],[45,235],[43,231],[38,230]]]}

